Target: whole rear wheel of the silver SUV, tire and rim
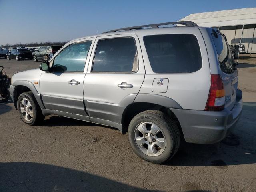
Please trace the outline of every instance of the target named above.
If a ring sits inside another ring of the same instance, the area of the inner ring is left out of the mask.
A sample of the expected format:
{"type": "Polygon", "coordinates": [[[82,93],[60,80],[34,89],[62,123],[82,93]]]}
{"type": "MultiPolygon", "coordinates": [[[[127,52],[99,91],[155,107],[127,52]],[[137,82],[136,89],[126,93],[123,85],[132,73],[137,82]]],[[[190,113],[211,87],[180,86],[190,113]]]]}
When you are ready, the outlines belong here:
{"type": "Polygon", "coordinates": [[[180,146],[177,124],[161,111],[148,110],[136,115],[128,128],[134,152],[153,163],[170,160],[180,146]]]}

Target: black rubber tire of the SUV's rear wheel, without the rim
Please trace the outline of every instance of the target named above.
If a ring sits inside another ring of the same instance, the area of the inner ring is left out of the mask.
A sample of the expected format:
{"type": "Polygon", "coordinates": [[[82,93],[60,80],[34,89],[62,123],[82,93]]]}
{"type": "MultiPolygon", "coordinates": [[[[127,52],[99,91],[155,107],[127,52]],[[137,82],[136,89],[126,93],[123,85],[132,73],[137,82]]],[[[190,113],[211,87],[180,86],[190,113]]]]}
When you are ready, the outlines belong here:
{"type": "Polygon", "coordinates": [[[174,120],[170,119],[164,112],[148,110],[137,114],[130,122],[128,127],[129,141],[134,152],[142,159],[162,164],[170,160],[180,147],[180,132],[174,120]],[[164,151],[158,156],[149,156],[143,153],[135,142],[135,130],[142,122],[156,124],[163,132],[166,140],[164,151]]]}

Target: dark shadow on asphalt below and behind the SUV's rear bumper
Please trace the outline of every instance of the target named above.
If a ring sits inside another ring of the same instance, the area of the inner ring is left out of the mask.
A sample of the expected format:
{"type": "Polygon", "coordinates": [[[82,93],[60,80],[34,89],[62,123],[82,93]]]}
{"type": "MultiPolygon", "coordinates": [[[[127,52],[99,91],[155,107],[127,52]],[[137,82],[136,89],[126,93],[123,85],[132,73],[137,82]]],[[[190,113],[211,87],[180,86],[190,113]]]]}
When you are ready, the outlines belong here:
{"type": "Polygon", "coordinates": [[[171,166],[216,166],[256,163],[256,103],[244,102],[236,128],[224,140],[212,145],[182,143],[177,154],[167,162],[171,166]]]}

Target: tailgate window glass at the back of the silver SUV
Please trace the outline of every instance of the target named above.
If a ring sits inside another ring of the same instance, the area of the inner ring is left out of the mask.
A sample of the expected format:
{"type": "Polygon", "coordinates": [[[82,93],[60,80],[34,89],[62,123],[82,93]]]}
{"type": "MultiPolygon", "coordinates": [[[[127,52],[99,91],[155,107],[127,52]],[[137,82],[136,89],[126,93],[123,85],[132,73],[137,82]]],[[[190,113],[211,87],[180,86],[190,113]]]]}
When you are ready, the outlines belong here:
{"type": "Polygon", "coordinates": [[[218,54],[220,69],[226,74],[232,74],[234,72],[232,65],[235,61],[224,36],[212,34],[212,39],[218,54]]]}

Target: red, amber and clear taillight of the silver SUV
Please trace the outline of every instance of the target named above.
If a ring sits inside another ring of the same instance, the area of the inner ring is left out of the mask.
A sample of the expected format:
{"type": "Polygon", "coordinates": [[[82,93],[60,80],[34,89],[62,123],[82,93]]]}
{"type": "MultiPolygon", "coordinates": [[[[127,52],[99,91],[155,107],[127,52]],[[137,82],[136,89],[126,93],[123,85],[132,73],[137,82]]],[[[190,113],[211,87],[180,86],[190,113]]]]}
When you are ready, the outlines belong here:
{"type": "Polygon", "coordinates": [[[218,74],[211,74],[210,93],[208,96],[206,111],[221,111],[225,106],[225,90],[222,78],[218,74]]]}

